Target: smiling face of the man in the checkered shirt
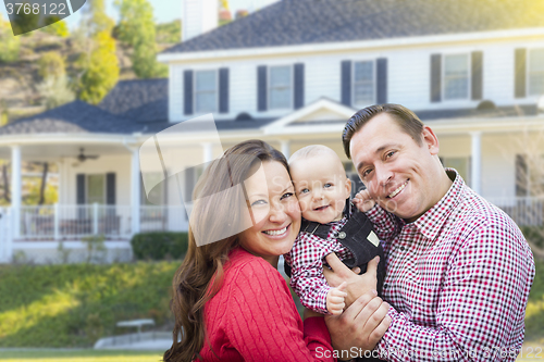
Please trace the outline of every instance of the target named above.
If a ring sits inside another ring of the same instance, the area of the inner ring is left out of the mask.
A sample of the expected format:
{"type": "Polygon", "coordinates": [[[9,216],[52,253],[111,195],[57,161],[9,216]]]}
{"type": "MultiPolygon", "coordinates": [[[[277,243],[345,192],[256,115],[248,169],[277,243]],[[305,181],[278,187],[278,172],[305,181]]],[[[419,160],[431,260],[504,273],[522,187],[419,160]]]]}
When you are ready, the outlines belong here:
{"type": "Polygon", "coordinates": [[[407,222],[431,209],[441,198],[438,140],[424,127],[418,145],[393,117],[381,113],[359,129],[349,150],[370,197],[407,222]],[[438,167],[438,168],[437,168],[438,167]]]}

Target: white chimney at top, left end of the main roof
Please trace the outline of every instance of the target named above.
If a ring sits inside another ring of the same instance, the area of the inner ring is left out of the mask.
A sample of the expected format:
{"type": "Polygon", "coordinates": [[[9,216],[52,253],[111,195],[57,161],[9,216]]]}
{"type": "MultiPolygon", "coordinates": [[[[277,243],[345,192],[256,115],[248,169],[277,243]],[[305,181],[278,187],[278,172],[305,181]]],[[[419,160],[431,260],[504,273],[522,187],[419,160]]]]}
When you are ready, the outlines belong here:
{"type": "Polygon", "coordinates": [[[218,0],[183,0],[183,41],[218,27],[218,0]]]}

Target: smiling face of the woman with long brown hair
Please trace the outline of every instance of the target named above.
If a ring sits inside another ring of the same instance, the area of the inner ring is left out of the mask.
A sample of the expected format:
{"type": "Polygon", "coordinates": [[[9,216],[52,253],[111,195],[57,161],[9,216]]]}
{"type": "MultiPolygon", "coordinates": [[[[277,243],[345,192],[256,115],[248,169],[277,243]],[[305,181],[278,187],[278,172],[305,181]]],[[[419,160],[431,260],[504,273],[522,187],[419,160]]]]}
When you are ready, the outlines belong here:
{"type": "Polygon", "coordinates": [[[265,161],[244,186],[252,226],[239,235],[239,242],[275,267],[300,229],[300,208],[289,174],[280,162],[265,161]]]}

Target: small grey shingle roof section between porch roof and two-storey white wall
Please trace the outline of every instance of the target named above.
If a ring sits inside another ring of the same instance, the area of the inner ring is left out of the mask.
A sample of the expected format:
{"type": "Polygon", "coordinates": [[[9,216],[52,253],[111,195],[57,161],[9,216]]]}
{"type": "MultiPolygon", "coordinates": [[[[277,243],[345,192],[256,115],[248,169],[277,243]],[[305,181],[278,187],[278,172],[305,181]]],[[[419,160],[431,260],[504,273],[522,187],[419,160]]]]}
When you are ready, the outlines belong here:
{"type": "Polygon", "coordinates": [[[121,80],[98,107],[136,122],[168,121],[169,79],[121,80]]]}

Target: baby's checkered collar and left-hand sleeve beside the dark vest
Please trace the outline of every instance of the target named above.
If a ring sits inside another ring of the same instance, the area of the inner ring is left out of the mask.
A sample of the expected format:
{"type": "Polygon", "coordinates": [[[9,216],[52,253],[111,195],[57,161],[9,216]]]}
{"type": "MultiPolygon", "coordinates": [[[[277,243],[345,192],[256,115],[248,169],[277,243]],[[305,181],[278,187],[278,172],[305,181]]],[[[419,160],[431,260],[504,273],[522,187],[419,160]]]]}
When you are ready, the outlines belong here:
{"type": "Polygon", "coordinates": [[[332,222],[326,240],[309,233],[299,233],[293,249],[284,254],[292,267],[290,287],[300,297],[300,302],[318,313],[330,314],[326,310],[326,294],[331,290],[323,276],[324,258],[336,252],[341,260],[354,258],[353,253],[336,240],[336,234],[346,225],[344,216],[332,222]]]}

